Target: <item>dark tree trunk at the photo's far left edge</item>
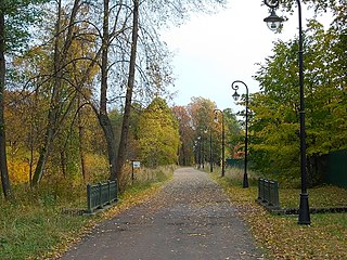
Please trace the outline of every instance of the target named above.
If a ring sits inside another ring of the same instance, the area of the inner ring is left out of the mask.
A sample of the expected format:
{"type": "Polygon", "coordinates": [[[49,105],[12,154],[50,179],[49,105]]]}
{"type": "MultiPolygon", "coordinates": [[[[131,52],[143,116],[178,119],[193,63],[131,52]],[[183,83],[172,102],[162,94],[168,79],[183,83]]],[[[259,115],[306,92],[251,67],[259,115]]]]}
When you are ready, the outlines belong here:
{"type": "MultiPolygon", "coordinates": [[[[0,0],[0,6],[3,6],[3,0],[0,0]]],[[[0,171],[2,192],[5,198],[11,197],[11,185],[8,171],[7,159],[7,142],[4,130],[4,76],[5,76],[5,61],[4,61],[4,13],[0,11],[0,171]]]]}

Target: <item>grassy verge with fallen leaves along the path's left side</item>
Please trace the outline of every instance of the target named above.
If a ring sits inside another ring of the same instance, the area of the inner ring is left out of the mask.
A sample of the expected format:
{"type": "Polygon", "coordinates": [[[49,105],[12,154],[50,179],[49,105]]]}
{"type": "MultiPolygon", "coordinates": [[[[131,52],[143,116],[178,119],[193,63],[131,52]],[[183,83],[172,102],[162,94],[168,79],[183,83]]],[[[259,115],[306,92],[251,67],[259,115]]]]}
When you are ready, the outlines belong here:
{"type": "Polygon", "coordinates": [[[86,208],[85,186],[59,195],[52,191],[18,188],[15,202],[0,198],[0,259],[57,257],[100,221],[153,196],[170,179],[172,169],[156,170],[154,176],[154,181],[129,186],[110,210],[90,217],[61,212],[62,208],[86,208]]]}

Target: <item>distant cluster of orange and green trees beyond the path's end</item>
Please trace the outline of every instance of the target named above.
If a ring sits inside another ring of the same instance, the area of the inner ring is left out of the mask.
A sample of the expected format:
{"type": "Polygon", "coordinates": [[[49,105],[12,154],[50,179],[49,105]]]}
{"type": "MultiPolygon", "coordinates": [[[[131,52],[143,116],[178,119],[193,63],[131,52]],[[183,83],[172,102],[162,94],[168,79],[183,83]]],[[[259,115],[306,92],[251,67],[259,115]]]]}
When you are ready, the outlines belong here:
{"type": "MultiPolygon", "coordinates": [[[[215,108],[217,108],[216,104],[204,98],[192,98],[191,103],[187,106],[172,108],[180,126],[180,165],[189,166],[193,162],[210,161],[210,159],[213,159],[213,164],[220,162],[222,128],[221,120],[214,120],[215,108]]],[[[226,158],[230,158],[233,157],[235,147],[240,148],[242,132],[240,123],[230,108],[223,110],[223,116],[226,158]]]]}

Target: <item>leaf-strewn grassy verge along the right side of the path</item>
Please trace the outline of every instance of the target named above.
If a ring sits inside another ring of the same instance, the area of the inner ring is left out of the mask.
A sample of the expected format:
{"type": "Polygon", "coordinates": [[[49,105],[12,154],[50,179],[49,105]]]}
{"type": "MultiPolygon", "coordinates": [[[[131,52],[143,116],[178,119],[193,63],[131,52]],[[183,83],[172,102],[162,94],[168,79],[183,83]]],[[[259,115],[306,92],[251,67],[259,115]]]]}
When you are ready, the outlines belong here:
{"type": "MultiPolygon", "coordinates": [[[[268,259],[347,259],[347,213],[311,214],[311,225],[297,216],[273,216],[255,203],[257,186],[242,188],[240,180],[213,174],[248,222],[268,259]]],[[[298,207],[298,190],[280,190],[282,207],[298,207]]],[[[309,190],[312,207],[347,206],[347,191],[333,186],[309,190]]]]}

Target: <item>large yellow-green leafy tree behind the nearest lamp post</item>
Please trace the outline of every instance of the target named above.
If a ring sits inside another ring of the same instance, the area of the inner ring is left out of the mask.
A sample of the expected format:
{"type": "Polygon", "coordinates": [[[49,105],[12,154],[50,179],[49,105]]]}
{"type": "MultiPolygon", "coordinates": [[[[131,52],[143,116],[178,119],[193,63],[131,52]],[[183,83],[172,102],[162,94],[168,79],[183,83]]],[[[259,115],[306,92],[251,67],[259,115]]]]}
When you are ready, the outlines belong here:
{"type": "MultiPolygon", "coordinates": [[[[347,145],[346,46],[338,31],[316,21],[305,31],[305,104],[308,157],[347,145]]],[[[299,177],[299,88],[297,40],[275,43],[256,75],[262,91],[253,95],[252,157],[262,173],[299,177]]],[[[312,164],[311,161],[308,161],[312,164]]],[[[308,167],[314,169],[314,166],[308,167]]],[[[309,172],[311,180],[314,172],[309,172]]]]}

